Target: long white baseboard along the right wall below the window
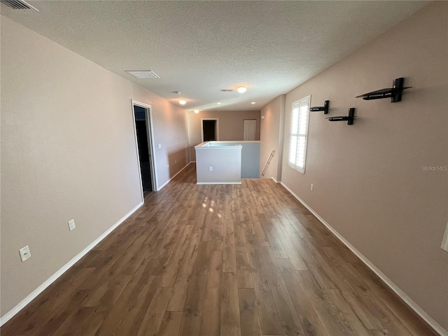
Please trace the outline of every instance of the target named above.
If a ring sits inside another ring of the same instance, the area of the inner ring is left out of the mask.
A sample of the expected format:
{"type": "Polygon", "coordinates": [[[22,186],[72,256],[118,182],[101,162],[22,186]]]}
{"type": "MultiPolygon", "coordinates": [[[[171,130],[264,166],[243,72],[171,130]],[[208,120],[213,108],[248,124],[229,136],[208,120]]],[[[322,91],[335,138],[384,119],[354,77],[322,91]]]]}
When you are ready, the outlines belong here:
{"type": "MultiPolygon", "coordinates": [[[[274,179],[274,178],[272,178],[274,179]]],[[[275,180],[274,180],[275,181],[275,180]]],[[[312,214],[314,214],[314,216],[316,216],[316,218],[321,221],[321,223],[323,225],[325,225],[326,228],[328,228],[328,230],[330,230],[332,232],[333,235],[335,235],[337,237],[337,239],[339,239],[342,244],[344,244],[347,248],[350,249],[350,251],[352,251],[353,253],[355,253],[355,255],[360,258],[360,260],[362,262],[364,262],[364,264],[369,267],[372,272],[374,272],[374,274],[377,274],[377,276],[379,276],[379,278],[386,283],[386,285],[391,288],[391,290],[393,290],[395,292],[395,294],[397,294],[401,300],[403,300],[412,310],[414,310],[416,312],[416,314],[418,314],[421,318],[423,318],[424,321],[426,321],[426,323],[428,323],[428,325],[431,326],[431,328],[433,328],[436,332],[438,332],[441,336],[448,336],[448,331],[444,330],[444,328],[442,328],[442,325],[440,325],[439,323],[437,323],[436,321],[434,321],[434,319],[432,317],[430,317],[426,311],[424,311],[423,309],[421,309],[421,307],[416,304],[414,302],[414,300],[412,300],[409,296],[407,296],[407,294],[405,292],[403,292],[397,285],[395,285],[395,283],[393,283],[393,281],[391,281],[391,279],[389,279],[386,274],[384,274],[383,272],[381,272],[381,270],[379,270],[370,260],[368,260],[367,258],[365,258],[365,256],[360,253],[360,251],[358,251],[353,245],[351,245],[349,243],[349,241],[347,241],[344,237],[342,237],[342,235],[339,234],[339,232],[337,232],[334,228],[332,228],[332,226],[330,224],[328,224],[321,216],[319,216],[316,211],[314,211],[311,207],[309,207],[309,205],[307,203],[305,203],[300,197],[298,197],[293,190],[290,190],[290,188],[288,188],[288,186],[286,186],[283,182],[281,182],[281,185],[283,187],[286,188],[286,190],[288,190],[291,195],[293,195],[295,198],[297,198],[297,200],[302,203],[304,205],[304,207],[306,207],[309,211],[311,211],[312,214]]]]}

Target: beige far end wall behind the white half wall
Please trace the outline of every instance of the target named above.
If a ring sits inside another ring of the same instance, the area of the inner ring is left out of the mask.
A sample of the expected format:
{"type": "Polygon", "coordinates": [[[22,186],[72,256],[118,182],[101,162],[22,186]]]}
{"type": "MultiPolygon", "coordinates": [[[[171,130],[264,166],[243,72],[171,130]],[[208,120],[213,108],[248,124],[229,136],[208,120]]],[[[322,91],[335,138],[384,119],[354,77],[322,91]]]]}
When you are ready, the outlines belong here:
{"type": "Polygon", "coordinates": [[[243,140],[244,119],[257,120],[256,140],[260,140],[260,111],[200,111],[187,112],[188,136],[190,139],[190,158],[196,160],[195,146],[202,142],[201,119],[218,119],[219,140],[243,140]]]}

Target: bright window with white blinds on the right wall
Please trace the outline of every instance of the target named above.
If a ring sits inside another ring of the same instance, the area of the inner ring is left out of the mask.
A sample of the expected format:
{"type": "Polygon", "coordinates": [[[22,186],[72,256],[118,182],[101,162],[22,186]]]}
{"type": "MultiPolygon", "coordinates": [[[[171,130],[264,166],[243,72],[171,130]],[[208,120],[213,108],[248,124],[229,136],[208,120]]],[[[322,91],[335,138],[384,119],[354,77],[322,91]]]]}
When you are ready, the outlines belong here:
{"type": "Polygon", "coordinates": [[[308,96],[293,102],[293,111],[291,112],[288,164],[302,174],[305,172],[305,161],[307,159],[310,98],[311,96],[308,96]]]}

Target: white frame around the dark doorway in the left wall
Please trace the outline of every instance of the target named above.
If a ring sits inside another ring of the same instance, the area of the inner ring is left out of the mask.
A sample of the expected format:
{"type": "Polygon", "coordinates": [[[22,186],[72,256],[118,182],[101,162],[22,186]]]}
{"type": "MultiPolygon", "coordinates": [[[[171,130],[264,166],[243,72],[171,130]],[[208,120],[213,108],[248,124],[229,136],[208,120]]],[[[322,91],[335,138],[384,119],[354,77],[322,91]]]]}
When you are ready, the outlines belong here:
{"type": "Polygon", "coordinates": [[[134,137],[135,137],[135,150],[136,150],[136,154],[137,154],[137,162],[139,162],[139,180],[140,180],[140,189],[141,189],[141,200],[142,202],[145,202],[144,199],[144,193],[143,193],[143,181],[141,181],[141,169],[140,169],[140,157],[139,157],[139,142],[137,140],[137,128],[135,127],[135,111],[134,111],[134,105],[135,106],[140,106],[143,107],[146,110],[146,130],[149,132],[147,132],[148,135],[148,149],[149,149],[149,157],[151,160],[149,160],[149,169],[151,171],[151,186],[153,191],[157,191],[158,190],[158,185],[157,185],[157,170],[155,167],[157,167],[157,165],[155,164],[155,155],[154,155],[154,148],[153,148],[153,144],[154,144],[154,130],[153,130],[153,114],[151,113],[151,105],[145,104],[145,103],[141,103],[141,102],[137,102],[137,100],[131,99],[131,103],[132,103],[132,120],[134,122],[134,137]],[[148,134],[149,133],[149,134],[148,134]]]}

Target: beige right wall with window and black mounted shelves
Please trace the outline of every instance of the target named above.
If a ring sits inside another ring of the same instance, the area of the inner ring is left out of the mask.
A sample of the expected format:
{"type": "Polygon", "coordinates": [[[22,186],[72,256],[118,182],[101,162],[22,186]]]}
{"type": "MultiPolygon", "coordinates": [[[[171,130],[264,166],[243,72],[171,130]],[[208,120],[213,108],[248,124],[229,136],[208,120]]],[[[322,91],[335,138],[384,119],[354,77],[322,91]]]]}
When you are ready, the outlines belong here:
{"type": "Polygon", "coordinates": [[[286,94],[283,172],[291,190],[448,329],[448,3],[437,1],[286,94]],[[402,102],[358,94],[405,77],[402,102]],[[311,94],[306,173],[288,167],[290,110],[311,94]],[[310,191],[310,183],[314,191],[310,191]]]}

